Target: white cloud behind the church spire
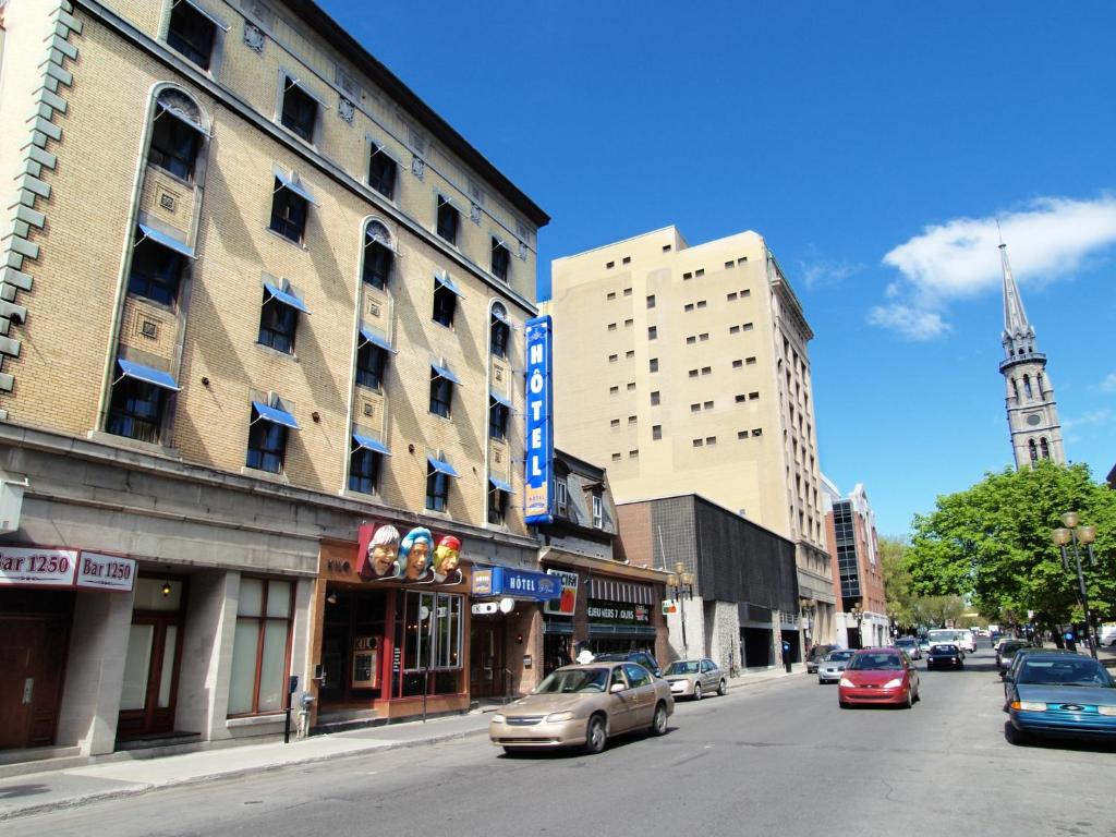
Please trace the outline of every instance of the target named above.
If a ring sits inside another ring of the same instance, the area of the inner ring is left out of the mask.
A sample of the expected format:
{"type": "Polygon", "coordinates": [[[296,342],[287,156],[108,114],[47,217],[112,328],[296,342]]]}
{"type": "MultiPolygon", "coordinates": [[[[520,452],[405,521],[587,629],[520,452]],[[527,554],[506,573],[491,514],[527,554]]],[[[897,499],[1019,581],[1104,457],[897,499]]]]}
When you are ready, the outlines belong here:
{"type": "Polygon", "coordinates": [[[884,264],[902,276],[885,291],[895,301],[873,308],[868,321],[915,340],[947,331],[943,315],[951,302],[1000,288],[997,220],[1021,286],[1070,275],[1116,243],[1116,198],[1110,195],[1040,198],[1020,210],[934,224],[884,256],[884,264]]]}

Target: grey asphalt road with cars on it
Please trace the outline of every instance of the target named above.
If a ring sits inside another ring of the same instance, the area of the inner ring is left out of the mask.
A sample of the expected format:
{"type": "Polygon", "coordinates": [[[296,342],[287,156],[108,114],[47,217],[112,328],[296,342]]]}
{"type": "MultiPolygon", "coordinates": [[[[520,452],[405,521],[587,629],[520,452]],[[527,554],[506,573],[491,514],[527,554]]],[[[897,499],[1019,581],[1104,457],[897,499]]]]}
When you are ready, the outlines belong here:
{"type": "Polygon", "coordinates": [[[6,822],[18,835],[1116,835],[1116,748],[1004,740],[991,652],[913,710],[812,675],[680,703],[661,739],[509,758],[464,739],[6,822]]]}

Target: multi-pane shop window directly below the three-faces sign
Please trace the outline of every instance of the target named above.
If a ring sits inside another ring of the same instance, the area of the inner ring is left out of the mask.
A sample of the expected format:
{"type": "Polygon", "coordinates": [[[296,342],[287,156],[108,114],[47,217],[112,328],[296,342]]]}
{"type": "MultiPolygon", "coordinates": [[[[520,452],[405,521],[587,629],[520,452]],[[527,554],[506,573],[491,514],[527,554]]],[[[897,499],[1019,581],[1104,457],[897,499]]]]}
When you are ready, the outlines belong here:
{"type": "Polygon", "coordinates": [[[410,590],[402,598],[395,619],[403,660],[400,696],[462,692],[463,598],[410,590]]]}

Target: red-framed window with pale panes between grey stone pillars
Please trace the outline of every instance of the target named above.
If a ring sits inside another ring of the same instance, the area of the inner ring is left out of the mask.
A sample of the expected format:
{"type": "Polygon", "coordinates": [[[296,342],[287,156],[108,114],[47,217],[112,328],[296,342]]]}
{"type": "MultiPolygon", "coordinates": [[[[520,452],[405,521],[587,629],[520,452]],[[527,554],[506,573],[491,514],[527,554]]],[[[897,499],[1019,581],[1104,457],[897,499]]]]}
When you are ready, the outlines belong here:
{"type": "Polygon", "coordinates": [[[291,581],[241,578],[229,683],[230,715],[280,712],[285,708],[294,610],[291,581]]]}

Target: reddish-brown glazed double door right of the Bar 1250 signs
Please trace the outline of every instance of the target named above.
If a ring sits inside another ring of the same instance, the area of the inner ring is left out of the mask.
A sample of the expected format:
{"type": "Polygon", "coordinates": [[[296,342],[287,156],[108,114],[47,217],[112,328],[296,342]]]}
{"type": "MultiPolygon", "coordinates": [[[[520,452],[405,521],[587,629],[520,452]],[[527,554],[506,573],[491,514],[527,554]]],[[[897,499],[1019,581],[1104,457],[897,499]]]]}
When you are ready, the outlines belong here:
{"type": "Polygon", "coordinates": [[[185,602],[185,579],[136,580],[117,740],[174,730],[185,602]]]}

